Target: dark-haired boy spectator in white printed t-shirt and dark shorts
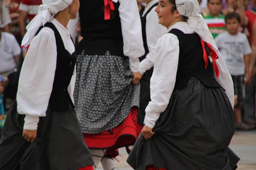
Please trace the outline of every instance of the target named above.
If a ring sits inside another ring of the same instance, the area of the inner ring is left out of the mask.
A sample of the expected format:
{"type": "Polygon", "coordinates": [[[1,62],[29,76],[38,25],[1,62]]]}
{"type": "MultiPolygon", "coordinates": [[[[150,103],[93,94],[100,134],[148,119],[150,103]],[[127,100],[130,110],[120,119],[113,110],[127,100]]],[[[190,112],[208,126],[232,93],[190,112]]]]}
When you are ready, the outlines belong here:
{"type": "Polygon", "coordinates": [[[235,12],[227,14],[225,23],[227,32],[219,34],[215,38],[215,42],[234,83],[234,91],[237,96],[237,104],[234,106],[236,129],[249,130],[250,127],[242,123],[241,104],[244,96],[244,77],[246,82],[250,80],[249,55],[252,51],[246,35],[238,31],[240,26],[239,14],[235,12]]]}

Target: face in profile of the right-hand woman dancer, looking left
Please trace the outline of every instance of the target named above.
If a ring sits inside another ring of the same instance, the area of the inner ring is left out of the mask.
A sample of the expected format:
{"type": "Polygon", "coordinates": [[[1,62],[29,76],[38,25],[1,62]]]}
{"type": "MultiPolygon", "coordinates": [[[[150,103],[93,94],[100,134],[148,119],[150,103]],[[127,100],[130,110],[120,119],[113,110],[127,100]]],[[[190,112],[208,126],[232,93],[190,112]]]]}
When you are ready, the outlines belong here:
{"type": "Polygon", "coordinates": [[[177,10],[172,11],[173,5],[169,0],[159,0],[159,4],[155,11],[158,16],[158,23],[169,28],[173,24],[177,23],[177,19],[180,16],[177,10]]]}

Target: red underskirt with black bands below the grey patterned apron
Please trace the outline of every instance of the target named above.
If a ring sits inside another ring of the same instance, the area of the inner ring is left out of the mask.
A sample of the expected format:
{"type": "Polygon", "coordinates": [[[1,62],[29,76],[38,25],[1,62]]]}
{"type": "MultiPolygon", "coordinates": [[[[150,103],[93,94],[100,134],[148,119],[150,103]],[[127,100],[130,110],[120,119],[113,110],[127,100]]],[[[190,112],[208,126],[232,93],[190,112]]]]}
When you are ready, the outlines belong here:
{"type": "Polygon", "coordinates": [[[84,140],[90,149],[119,148],[133,145],[137,139],[138,108],[131,108],[130,114],[118,126],[100,134],[84,134],[84,140]]]}

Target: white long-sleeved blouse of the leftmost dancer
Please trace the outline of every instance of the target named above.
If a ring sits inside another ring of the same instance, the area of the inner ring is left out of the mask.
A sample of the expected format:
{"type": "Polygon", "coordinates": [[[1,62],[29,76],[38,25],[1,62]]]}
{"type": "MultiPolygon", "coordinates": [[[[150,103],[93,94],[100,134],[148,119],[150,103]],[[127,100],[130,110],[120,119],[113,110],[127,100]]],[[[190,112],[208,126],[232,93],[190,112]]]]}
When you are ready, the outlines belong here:
{"type": "MultiPolygon", "coordinates": [[[[51,23],[59,31],[67,51],[73,54],[75,47],[67,28],[55,19],[52,19],[51,23]]],[[[51,28],[44,27],[32,40],[20,72],[17,111],[19,114],[26,115],[23,129],[36,130],[39,117],[46,116],[49,98],[52,93],[56,61],[57,47],[54,31],[51,28]]],[[[75,82],[76,71],[68,87],[72,101],[74,101],[75,82]]]]}

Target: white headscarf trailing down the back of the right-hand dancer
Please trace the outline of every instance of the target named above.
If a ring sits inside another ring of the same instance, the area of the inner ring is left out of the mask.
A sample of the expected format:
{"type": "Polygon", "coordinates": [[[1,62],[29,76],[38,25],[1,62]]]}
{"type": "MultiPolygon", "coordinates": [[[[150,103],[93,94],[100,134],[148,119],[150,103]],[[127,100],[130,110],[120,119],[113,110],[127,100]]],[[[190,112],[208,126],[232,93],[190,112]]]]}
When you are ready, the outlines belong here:
{"type": "MultiPolygon", "coordinates": [[[[216,63],[218,65],[218,69],[220,71],[219,77],[216,77],[214,74],[215,79],[217,82],[226,90],[226,94],[230,100],[231,105],[234,105],[234,88],[233,88],[233,81],[232,78],[227,70],[227,66],[224,60],[221,57],[220,52],[218,51],[217,45],[212,37],[209,28],[204,21],[204,18],[201,14],[199,14],[199,4],[198,0],[175,0],[177,11],[180,15],[188,17],[188,24],[190,28],[195,31],[201,37],[204,42],[208,42],[212,45],[212,49],[218,55],[218,59],[216,59],[216,63]]],[[[209,57],[210,60],[211,57],[209,57]]]]}

